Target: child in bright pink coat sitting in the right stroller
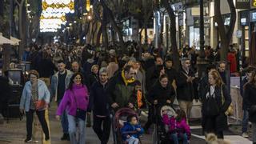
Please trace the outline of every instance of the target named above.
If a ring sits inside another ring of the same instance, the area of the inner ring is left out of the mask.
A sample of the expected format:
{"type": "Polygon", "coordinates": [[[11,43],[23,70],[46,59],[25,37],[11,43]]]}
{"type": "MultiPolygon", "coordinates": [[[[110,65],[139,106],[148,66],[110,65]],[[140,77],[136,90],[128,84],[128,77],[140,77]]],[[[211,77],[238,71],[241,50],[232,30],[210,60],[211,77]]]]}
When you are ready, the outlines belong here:
{"type": "Polygon", "coordinates": [[[167,134],[174,144],[182,141],[182,144],[187,144],[190,139],[190,126],[186,123],[186,114],[183,110],[176,110],[176,114],[170,117],[166,110],[162,111],[162,122],[166,126],[167,134]]]}

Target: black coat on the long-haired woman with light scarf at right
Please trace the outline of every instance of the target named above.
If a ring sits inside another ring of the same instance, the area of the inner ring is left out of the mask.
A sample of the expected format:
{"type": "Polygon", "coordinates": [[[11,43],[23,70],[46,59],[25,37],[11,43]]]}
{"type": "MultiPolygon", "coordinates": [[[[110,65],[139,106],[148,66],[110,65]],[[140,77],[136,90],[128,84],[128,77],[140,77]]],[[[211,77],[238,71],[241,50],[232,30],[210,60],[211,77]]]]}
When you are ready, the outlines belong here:
{"type": "MultiPolygon", "coordinates": [[[[210,85],[207,85],[206,89],[204,89],[202,92],[202,105],[206,103],[206,94],[208,93],[209,90],[210,90],[210,85]]],[[[203,127],[203,130],[206,130],[206,131],[209,130],[209,127],[212,127],[209,125],[213,125],[216,131],[226,130],[228,128],[228,125],[227,125],[227,117],[225,112],[230,106],[231,97],[225,85],[216,86],[214,94],[215,94],[215,100],[219,108],[219,114],[214,117],[206,117],[206,115],[204,115],[205,114],[204,109],[202,109],[202,127],[203,127]],[[222,94],[225,99],[223,104],[222,104],[222,94]]]]}

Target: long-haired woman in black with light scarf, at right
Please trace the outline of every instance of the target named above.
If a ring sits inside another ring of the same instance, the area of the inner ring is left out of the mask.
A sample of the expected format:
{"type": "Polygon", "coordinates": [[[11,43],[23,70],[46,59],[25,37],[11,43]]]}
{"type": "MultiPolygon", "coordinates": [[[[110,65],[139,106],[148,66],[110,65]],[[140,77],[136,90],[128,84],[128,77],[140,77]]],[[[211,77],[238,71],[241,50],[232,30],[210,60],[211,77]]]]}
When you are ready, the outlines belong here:
{"type": "Polygon", "coordinates": [[[202,130],[223,138],[223,130],[228,128],[226,110],[231,103],[230,94],[217,70],[209,73],[208,85],[202,90],[202,130]]]}

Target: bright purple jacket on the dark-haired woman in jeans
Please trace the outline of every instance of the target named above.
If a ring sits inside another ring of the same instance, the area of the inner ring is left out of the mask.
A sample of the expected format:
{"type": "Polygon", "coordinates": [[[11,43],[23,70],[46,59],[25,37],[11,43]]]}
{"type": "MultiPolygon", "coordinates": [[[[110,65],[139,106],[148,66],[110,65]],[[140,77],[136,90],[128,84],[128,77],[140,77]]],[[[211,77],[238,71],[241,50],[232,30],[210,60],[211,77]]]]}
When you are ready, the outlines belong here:
{"type": "Polygon", "coordinates": [[[56,115],[61,115],[64,110],[75,116],[77,108],[87,110],[89,93],[86,86],[73,85],[72,90],[66,90],[61,103],[58,106],[56,115]],[[75,98],[75,99],[74,99],[75,98]]]}

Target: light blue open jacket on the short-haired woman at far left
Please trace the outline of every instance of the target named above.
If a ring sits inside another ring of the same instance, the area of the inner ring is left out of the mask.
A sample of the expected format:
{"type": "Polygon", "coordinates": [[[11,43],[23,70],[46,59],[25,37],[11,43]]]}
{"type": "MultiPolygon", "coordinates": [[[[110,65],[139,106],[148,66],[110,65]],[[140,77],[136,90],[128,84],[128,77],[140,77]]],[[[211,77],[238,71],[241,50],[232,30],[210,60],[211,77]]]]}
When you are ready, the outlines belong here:
{"type": "MultiPolygon", "coordinates": [[[[26,112],[30,110],[30,102],[31,102],[31,82],[26,82],[23,92],[22,92],[22,98],[19,105],[20,109],[25,109],[26,112]]],[[[46,103],[50,102],[50,92],[48,90],[48,87],[46,86],[46,83],[42,80],[38,79],[38,100],[45,100],[46,103]]]]}

